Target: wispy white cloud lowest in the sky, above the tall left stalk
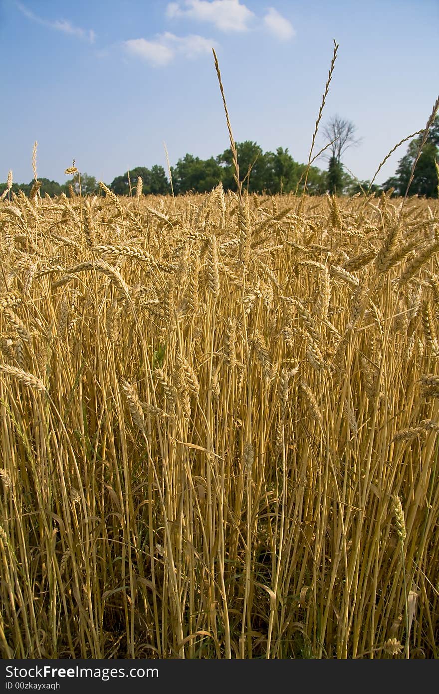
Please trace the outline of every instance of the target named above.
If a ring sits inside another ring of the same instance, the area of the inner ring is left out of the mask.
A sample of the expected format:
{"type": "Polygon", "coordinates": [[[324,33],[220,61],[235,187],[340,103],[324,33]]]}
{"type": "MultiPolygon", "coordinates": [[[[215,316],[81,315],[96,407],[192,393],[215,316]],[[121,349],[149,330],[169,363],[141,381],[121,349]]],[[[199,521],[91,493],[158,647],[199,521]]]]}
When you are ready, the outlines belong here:
{"type": "Polygon", "coordinates": [[[157,34],[153,40],[130,39],[123,41],[122,45],[130,56],[141,58],[154,67],[163,67],[169,65],[178,56],[196,58],[202,53],[210,53],[212,46],[216,46],[216,42],[196,34],[175,36],[166,31],[157,34]]]}

